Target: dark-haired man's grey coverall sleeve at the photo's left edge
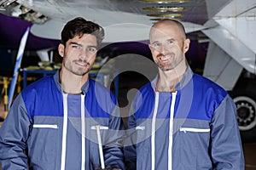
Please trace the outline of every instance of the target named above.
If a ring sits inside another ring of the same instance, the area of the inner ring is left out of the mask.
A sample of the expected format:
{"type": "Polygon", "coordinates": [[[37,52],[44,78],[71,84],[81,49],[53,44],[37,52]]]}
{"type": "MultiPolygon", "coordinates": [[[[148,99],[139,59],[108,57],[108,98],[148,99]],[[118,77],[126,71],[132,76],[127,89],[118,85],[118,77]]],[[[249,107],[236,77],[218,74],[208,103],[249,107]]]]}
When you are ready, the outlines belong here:
{"type": "Polygon", "coordinates": [[[0,128],[0,161],[2,169],[27,169],[25,154],[29,136],[29,117],[19,94],[0,128]]]}

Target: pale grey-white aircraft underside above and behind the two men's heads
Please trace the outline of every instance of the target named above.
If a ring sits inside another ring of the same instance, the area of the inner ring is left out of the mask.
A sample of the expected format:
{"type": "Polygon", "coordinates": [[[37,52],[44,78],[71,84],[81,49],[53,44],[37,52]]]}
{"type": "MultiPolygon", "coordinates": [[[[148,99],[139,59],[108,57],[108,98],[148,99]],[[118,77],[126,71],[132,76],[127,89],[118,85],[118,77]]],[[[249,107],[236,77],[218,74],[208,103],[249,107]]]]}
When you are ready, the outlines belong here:
{"type": "MultiPolygon", "coordinates": [[[[10,1],[10,0],[9,0],[10,1]]],[[[152,0],[154,1],[154,0],[152,0]]],[[[182,0],[180,0],[182,1],[182,0]]],[[[17,3],[32,8],[47,16],[44,23],[32,25],[35,36],[60,39],[61,29],[67,20],[82,16],[104,27],[104,42],[129,42],[148,40],[148,31],[154,19],[145,7],[183,7],[183,16],[178,18],[187,33],[203,32],[209,41],[204,76],[219,82],[224,88],[234,87],[234,80],[222,81],[233,71],[242,68],[255,74],[256,46],[256,1],[255,0],[186,0],[185,3],[148,3],[143,0],[17,0],[17,3]],[[221,55],[218,59],[218,55],[221,55]],[[227,59],[225,59],[227,58],[227,59]],[[210,62],[211,61],[211,62],[210,62]],[[215,61],[218,65],[212,65],[215,61]],[[220,72],[221,71],[221,74],[220,72]],[[218,72],[218,73],[217,73],[218,72]]],[[[22,11],[12,11],[19,15],[22,11]]],[[[34,17],[34,16],[33,16],[34,17]]],[[[35,20],[37,21],[37,20],[35,20]]],[[[234,74],[233,74],[234,75],[234,74]]]]}

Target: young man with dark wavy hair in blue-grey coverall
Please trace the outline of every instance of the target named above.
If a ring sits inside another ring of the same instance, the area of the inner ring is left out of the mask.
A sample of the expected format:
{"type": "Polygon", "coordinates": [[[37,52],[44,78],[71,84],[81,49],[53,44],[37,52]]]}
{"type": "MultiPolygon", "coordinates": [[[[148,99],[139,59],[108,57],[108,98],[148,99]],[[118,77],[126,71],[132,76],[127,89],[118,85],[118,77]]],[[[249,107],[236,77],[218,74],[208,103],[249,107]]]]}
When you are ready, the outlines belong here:
{"type": "Polygon", "coordinates": [[[25,88],[0,129],[2,169],[124,169],[123,128],[114,95],[90,79],[104,31],[83,18],[67,22],[58,52],[61,70],[25,88]]]}

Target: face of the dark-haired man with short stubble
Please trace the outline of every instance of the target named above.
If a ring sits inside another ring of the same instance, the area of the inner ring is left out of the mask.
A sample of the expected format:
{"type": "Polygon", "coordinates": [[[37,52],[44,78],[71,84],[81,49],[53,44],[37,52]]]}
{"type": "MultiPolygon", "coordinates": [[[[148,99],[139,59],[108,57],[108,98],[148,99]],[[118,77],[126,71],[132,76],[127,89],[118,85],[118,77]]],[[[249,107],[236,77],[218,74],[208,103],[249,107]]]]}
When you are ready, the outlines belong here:
{"type": "Polygon", "coordinates": [[[96,59],[96,37],[84,34],[69,39],[66,47],[59,45],[59,54],[63,57],[62,67],[77,76],[87,74],[96,59]]]}

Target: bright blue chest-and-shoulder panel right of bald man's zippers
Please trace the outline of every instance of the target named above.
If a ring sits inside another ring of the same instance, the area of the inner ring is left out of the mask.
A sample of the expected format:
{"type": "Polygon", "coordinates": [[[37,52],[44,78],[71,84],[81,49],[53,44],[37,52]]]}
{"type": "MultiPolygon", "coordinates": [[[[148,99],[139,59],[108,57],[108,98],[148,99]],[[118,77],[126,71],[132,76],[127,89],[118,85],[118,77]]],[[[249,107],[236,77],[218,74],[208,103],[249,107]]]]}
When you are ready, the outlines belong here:
{"type": "Polygon", "coordinates": [[[176,118],[210,121],[214,111],[227,95],[223,88],[210,80],[194,75],[181,91],[176,118]]]}

